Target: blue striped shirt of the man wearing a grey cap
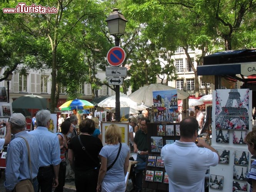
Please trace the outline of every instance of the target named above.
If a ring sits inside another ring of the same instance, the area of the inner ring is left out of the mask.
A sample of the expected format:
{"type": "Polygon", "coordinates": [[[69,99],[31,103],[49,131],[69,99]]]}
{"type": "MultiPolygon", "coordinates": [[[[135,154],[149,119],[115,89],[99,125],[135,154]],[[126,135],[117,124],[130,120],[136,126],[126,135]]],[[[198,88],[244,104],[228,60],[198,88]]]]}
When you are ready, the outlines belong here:
{"type": "Polygon", "coordinates": [[[39,148],[37,139],[21,131],[12,137],[7,148],[6,169],[5,169],[5,188],[13,190],[15,185],[24,179],[33,179],[37,177],[39,169],[39,148]],[[25,137],[30,148],[30,158],[32,166],[32,178],[28,161],[28,149],[25,140],[19,136],[25,137]]]}

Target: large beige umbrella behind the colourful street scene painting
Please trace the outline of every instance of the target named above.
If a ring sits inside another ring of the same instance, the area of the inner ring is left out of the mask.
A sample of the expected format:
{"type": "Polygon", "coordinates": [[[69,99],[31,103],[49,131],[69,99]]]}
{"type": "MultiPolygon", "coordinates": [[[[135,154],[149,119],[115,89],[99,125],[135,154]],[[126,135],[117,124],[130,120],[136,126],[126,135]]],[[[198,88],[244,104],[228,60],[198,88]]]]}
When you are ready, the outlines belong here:
{"type": "MultiPolygon", "coordinates": [[[[144,103],[145,106],[153,105],[153,94],[152,91],[161,91],[161,90],[172,90],[176,89],[167,85],[163,84],[150,84],[148,86],[144,86],[137,91],[133,92],[129,95],[129,98],[137,103],[144,103]]],[[[189,94],[185,91],[181,91],[177,89],[178,92],[178,99],[186,99],[189,94]]]]}

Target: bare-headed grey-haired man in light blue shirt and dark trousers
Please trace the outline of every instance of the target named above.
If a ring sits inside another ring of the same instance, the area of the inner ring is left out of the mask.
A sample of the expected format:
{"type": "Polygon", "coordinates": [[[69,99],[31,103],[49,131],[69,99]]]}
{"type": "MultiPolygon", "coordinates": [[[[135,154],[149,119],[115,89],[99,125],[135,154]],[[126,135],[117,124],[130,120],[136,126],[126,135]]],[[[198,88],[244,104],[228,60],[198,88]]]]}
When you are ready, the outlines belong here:
{"type": "Polygon", "coordinates": [[[60,143],[58,136],[49,131],[51,113],[41,110],[36,115],[37,129],[28,132],[36,137],[39,147],[38,191],[51,192],[58,186],[60,169],[60,143]]]}

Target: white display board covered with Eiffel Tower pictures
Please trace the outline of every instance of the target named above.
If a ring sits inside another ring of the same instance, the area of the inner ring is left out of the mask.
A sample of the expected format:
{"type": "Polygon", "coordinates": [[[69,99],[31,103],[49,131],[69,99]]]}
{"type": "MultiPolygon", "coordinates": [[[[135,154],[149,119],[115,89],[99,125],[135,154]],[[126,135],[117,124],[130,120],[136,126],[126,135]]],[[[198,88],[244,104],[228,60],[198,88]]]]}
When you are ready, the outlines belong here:
{"type": "Polygon", "coordinates": [[[247,191],[245,180],[251,154],[244,142],[252,130],[252,92],[249,89],[213,91],[212,147],[220,155],[217,166],[210,167],[209,192],[247,191]]]}

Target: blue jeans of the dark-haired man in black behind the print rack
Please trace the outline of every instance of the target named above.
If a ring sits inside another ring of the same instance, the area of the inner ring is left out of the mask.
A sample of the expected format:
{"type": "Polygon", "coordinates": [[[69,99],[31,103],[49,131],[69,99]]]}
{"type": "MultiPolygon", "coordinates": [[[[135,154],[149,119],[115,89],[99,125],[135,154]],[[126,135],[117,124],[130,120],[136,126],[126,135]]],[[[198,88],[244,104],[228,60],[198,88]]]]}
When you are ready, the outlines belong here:
{"type": "Polygon", "coordinates": [[[148,155],[137,155],[136,161],[138,162],[135,167],[135,190],[142,190],[142,176],[143,170],[146,168],[146,162],[148,160],[148,155]]]}

